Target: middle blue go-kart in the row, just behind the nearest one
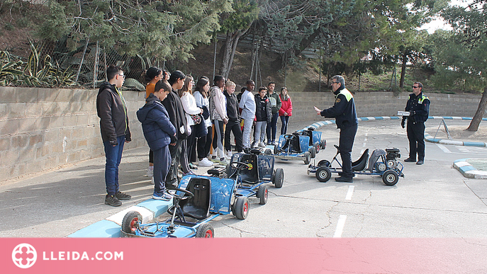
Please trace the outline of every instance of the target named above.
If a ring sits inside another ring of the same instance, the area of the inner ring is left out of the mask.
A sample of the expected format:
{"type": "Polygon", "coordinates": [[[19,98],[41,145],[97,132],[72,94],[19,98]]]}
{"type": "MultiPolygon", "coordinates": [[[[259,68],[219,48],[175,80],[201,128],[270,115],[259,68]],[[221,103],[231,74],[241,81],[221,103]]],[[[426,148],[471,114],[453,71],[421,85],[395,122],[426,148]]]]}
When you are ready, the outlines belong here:
{"type": "Polygon", "coordinates": [[[255,196],[260,205],[267,203],[269,190],[266,183],[272,183],[276,188],[282,188],[284,183],[284,169],[274,170],[274,156],[262,154],[261,149],[233,154],[225,173],[237,182],[237,197],[255,196]]]}

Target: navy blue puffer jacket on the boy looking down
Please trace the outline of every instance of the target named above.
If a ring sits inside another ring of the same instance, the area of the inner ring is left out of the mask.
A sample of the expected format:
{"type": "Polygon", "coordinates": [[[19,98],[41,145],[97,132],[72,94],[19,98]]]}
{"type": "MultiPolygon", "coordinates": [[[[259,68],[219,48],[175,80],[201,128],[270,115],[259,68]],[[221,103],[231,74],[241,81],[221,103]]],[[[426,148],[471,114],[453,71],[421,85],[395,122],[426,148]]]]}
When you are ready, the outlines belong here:
{"type": "Polygon", "coordinates": [[[142,132],[150,149],[162,149],[176,142],[176,129],[169,121],[169,114],[159,98],[150,93],[145,102],[145,105],[137,110],[137,118],[142,122],[142,132]]]}

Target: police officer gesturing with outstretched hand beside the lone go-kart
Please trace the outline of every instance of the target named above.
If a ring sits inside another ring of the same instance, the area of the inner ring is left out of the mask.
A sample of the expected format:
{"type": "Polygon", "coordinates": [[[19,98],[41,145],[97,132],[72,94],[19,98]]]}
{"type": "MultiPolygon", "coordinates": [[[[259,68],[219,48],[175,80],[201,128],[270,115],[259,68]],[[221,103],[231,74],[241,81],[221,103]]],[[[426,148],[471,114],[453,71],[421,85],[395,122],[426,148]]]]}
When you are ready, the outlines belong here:
{"type": "Polygon", "coordinates": [[[335,94],[335,104],[328,109],[320,110],[315,107],[316,113],[326,118],[335,118],[340,128],[340,156],[342,157],[342,174],[335,178],[337,182],[353,182],[352,173],[352,147],[359,120],[355,110],[354,96],[345,89],[345,79],[340,75],[332,77],[332,91],[335,94]]]}

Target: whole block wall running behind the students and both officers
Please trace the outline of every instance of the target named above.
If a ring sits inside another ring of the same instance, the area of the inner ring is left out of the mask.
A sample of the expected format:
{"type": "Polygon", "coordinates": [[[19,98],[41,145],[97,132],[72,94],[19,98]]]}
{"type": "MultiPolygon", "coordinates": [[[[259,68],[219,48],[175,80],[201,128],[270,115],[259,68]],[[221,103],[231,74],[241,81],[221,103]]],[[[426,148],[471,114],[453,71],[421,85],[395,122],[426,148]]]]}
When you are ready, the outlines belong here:
{"type": "MultiPolygon", "coordinates": [[[[0,87],[0,181],[103,156],[96,115],[97,90],[0,87]]],[[[145,139],[135,111],[145,92],[124,91],[133,142],[125,149],[144,146],[145,139]]],[[[472,117],[481,96],[427,94],[430,115],[472,117]]],[[[331,92],[290,93],[291,122],[316,120],[313,105],[328,108],[331,92]]],[[[408,93],[354,94],[359,117],[391,116],[403,110],[408,93]]],[[[306,126],[306,125],[303,125],[306,126]]]]}

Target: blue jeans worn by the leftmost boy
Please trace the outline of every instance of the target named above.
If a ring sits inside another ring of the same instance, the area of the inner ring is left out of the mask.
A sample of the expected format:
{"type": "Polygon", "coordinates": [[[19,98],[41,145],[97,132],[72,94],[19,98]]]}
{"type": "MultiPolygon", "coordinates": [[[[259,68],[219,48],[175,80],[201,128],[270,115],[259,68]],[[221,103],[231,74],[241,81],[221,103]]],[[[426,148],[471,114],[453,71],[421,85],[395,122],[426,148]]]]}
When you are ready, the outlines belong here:
{"type": "Polygon", "coordinates": [[[109,141],[103,142],[105,147],[105,185],[108,195],[118,193],[118,166],[122,160],[123,144],[125,136],[117,137],[118,144],[113,147],[109,141]]]}

